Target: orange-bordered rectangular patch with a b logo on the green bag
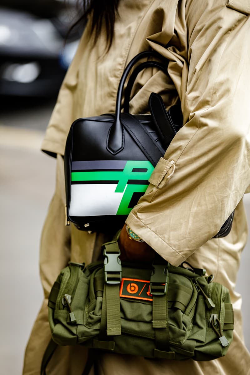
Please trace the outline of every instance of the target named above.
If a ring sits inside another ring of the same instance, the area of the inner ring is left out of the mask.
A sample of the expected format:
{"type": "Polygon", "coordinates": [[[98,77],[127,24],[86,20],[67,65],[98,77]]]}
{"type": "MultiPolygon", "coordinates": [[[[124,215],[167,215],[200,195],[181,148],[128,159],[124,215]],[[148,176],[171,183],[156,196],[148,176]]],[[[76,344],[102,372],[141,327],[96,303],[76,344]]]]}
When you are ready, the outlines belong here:
{"type": "Polygon", "coordinates": [[[153,301],[150,293],[150,281],[122,278],[120,297],[153,301]]]}

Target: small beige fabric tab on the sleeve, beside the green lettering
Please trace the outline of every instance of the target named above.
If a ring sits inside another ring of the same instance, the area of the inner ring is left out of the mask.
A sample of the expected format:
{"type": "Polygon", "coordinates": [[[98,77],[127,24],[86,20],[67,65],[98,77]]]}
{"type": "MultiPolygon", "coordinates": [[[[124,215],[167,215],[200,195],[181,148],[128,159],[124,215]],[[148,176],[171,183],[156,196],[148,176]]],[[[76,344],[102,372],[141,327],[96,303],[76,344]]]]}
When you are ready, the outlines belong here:
{"type": "Polygon", "coordinates": [[[169,162],[161,157],[148,181],[161,189],[172,177],[174,170],[175,162],[173,160],[169,162]]]}

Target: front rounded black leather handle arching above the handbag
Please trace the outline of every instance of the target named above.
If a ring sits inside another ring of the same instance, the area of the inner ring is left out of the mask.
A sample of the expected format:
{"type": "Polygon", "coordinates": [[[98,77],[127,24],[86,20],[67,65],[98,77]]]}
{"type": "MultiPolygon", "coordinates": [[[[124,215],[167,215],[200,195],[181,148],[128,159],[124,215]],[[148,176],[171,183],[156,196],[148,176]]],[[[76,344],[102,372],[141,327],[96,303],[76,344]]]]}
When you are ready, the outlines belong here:
{"type": "MultiPolygon", "coordinates": [[[[124,69],[124,72],[123,72],[123,75],[121,76],[121,80],[120,80],[118,90],[117,90],[116,107],[115,107],[115,120],[114,120],[114,123],[111,126],[111,129],[110,129],[110,132],[109,132],[109,137],[108,137],[108,140],[107,140],[107,148],[108,148],[109,151],[112,151],[113,154],[116,154],[119,151],[121,151],[123,149],[123,145],[124,145],[124,142],[123,142],[124,128],[123,128],[123,124],[121,123],[121,99],[122,99],[122,94],[123,94],[123,90],[124,90],[124,84],[126,82],[126,79],[129,75],[131,69],[133,68],[133,66],[139,60],[141,60],[142,58],[149,57],[149,56],[160,59],[163,62],[163,64],[164,63],[166,64],[166,62],[168,62],[168,60],[166,58],[162,57],[159,53],[157,53],[155,51],[144,51],[144,52],[141,52],[138,55],[136,55],[129,62],[129,64],[126,66],[126,68],[124,69]]],[[[155,62],[155,61],[147,61],[147,62],[145,62],[145,64],[139,65],[140,68],[138,67],[138,69],[137,68],[135,69],[136,74],[132,75],[132,77],[133,77],[133,80],[131,80],[132,85],[133,85],[133,82],[136,78],[136,75],[144,68],[157,67],[157,68],[166,72],[166,68],[163,64],[160,64],[159,62],[155,62]],[[142,66],[142,68],[141,68],[141,66],[142,66]]],[[[166,67],[167,67],[167,65],[166,65],[166,67]]],[[[129,85],[129,87],[130,86],[131,86],[131,84],[129,85]]],[[[132,89],[132,86],[131,86],[131,89],[132,89]]],[[[129,92],[129,95],[130,95],[130,92],[129,92]]],[[[126,98],[128,98],[127,95],[126,95],[126,98]]],[[[129,99],[126,99],[126,102],[128,100],[129,99]]],[[[126,109],[127,109],[127,104],[126,104],[126,109]]]]}

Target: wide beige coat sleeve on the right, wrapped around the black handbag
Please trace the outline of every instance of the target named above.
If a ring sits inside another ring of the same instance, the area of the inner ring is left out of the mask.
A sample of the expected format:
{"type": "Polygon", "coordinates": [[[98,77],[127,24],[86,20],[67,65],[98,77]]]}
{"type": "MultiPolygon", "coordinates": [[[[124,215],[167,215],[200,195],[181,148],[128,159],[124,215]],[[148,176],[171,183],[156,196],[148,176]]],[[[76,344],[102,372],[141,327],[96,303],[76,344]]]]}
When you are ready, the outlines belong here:
{"type": "MultiPolygon", "coordinates": [[[[186,1],[179,12],[187,60],[172,50],[171,66],[189,66],[180,77],[185,125],[126,220],[175,266],[218,233],[250,184],[250,17],[221,0],[186,1]]],[[[148,42],[169,57],[159,38],[148,42]]]]}

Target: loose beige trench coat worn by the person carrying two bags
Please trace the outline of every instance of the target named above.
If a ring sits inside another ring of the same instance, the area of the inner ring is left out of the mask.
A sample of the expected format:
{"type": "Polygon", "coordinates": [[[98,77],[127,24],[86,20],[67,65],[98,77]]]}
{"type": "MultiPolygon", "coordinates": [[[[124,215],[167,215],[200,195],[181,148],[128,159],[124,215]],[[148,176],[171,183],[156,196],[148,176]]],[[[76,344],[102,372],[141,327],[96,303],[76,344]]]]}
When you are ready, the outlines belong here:
{"type": "MultiPolygon", "coordinates": [[[[250,2],[249,0],[120,0],[115,38],[105,55],[105,30],[93,48],[87,25],[67,72],[42,144],[57,154],[57,184],[43,228],[40,272],[45,301],[27,345],[25,375],[38,375],[50,340],[47,298],[69,259],[90,263],[108,234],[88,234],[64,226],[64,145],[78,117],[115,111],[118,83],[126,63],[153,48],[169,59],[166,77],[147,69],[138,77],[131,113],[145,113],[151,92],[166,106],[181,99],[184,126],[150,177],[150,185],[127,223],[174,265],[188,259],[229,288],[235,313],[228,354],[210,362],[149,361],[105,354],[101,375],[246,375],[241,297],[235,291],[247,223],[242,197],[250,184],[250,2]],[[235,210],[231,233],[211,239],[235,210]]],[[[58,348],[48,375],[81,374],[86,350],[58,348]]]]}

